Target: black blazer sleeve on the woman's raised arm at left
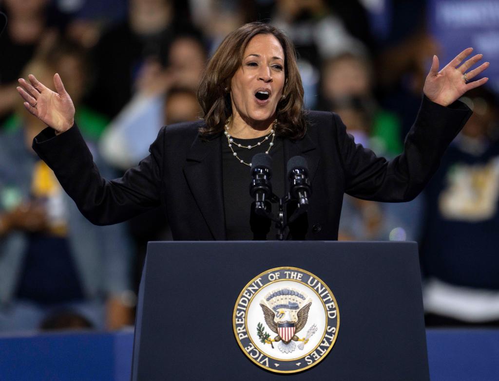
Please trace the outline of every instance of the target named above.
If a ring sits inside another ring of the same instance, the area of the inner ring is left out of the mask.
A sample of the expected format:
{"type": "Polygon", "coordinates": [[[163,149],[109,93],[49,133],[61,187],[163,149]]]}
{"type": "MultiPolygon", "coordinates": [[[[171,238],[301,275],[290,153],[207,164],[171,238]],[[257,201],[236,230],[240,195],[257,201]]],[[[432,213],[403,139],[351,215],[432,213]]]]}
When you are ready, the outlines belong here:
{"type": "Polygon", "coordinates": [[[54,171],[80,212],[95,225],[123,222],[160,205],[164,128],[149,156],[123,177],[101,177],[76,125],[60,135],[50,127],[33,139],[33,149],[54,171]]]}

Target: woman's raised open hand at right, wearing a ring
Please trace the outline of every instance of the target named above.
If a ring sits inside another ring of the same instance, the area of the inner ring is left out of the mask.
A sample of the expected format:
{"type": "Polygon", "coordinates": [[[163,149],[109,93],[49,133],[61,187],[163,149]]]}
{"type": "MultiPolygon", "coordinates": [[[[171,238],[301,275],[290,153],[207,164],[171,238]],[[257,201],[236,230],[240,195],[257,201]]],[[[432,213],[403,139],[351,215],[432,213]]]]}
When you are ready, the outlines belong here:
{"type": "Polygon", "coordinates": [[[431,101],[442,106],[449,106],[468,90],[482,86],[489,80],[489,78],[482,78],[478,81],[468,82],[489,67],[489,62],[485,62],[476,69],[467,72],[469,68],[482,59],[482,54],[473,56],[459,66],[472,51],[473,48],[463,50],[440,71],[438,57],[433,56],[432,67],[423,87],[423,93],[431,101]]]}

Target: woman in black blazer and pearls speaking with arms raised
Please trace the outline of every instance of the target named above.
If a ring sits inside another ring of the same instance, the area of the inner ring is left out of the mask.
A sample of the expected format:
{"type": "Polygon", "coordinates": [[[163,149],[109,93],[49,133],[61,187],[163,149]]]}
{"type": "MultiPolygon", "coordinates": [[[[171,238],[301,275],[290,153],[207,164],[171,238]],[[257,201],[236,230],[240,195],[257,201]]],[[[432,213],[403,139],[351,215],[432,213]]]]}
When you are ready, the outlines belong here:
{"type": "Polygon", "coordinates": [[[488,67],[486,62],[466,73],[482,55],[457,68],[472,50],[440,72],[434,57],[405,150],[390,162],[356,145],[336,115],[304,113],[293,46],[282,32],[258,22],[229,34],[210,60],[199,90],[204,120],[161,129],[151,154],[120,179],[100,177],[73,126],[74,107],[58,74],[56,93],[33,76],[20,79],[17,89],[25,108],[50,126],[33,148],[94,224],[121,222],[162,205],[176,240],[251,239],[251,157],[273,156],[274,193],[282,196],[284,165],[299,154],[308,162],[313,189],[301,229],[306,239],[335,240],[345,192],[397,202],[424,187],[470,116],[456,100],[487,82],[467,83],[488,67]]]}

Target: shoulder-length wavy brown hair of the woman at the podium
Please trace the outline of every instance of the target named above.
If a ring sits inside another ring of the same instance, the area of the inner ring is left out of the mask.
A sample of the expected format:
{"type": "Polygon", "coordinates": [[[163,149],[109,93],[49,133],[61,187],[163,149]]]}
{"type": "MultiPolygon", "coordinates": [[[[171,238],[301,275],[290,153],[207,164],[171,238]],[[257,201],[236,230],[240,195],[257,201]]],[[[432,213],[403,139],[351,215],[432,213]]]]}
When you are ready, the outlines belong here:
{"type": "Polygon", "coordinates": [[[202,136],[222,132],[232,115],[231,96],[225,90],[241,67],[244,51],[257,34],[271,34],[284,51],[285,97],[276,109],[276,134],[290,139],[300,139],[306,132],[303,110],[303,86],[296,65],[296,52],[292,42],[279,29],[263,22],[250,22],[231,32],[220,44],[208,62],[198,88],[198,101],[204,112],[206,127],[200,128],[202,136]]]}

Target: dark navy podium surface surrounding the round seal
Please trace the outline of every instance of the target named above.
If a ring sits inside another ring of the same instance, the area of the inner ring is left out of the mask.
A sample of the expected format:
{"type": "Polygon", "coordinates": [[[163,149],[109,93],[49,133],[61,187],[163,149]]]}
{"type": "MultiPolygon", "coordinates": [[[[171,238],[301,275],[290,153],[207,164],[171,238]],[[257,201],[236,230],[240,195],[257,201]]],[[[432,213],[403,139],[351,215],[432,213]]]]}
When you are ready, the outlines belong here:
{"type": "Polygon", "coordinates": [[[148,381],[429,380],[417,244],[149,243],[132,363],[132,380],[148,381]],[[320,278],[339,314],[327,355],[286,375],[250,361],[233,329],[248,282],[281,267],[320,278]]]}

